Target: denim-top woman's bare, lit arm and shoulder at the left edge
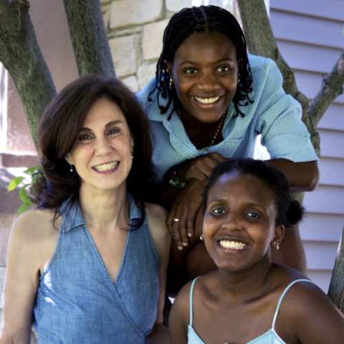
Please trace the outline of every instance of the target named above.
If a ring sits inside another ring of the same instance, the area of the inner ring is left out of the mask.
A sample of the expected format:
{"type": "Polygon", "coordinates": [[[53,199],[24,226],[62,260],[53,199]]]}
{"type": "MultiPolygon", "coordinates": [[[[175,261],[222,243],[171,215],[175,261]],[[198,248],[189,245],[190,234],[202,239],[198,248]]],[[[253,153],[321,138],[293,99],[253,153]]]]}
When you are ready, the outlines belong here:
{"type": "Polygon", "coordinates": [[[32,308],[39,285],[39,270],[45,260],[50,259],[52,252],[50,257],[47,255],[51,248],[54,250],[57,241],[57,236],[54,241],[51,235],[41,235],[44,226],[39,226],[40,220],[38,212],[25,213],[14,222],[11,230],[5,284],[5,325],[1,344],[30,343],[32,308]],[[45,248],[42,248],[43,244],[45,248]]]}

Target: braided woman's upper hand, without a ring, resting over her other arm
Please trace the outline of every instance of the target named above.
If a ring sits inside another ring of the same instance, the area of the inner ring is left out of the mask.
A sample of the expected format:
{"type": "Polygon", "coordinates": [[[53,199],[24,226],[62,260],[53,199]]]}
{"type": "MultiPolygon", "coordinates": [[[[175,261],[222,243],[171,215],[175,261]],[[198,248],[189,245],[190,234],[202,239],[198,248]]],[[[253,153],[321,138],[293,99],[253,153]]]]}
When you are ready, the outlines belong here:
{"type": "Polygon", "coordinates": [[[182,164],[180,169],[178,169],[177,177],[184,182],[189,182],[191,179],[199,180],[200,182],[206,182],[213,168],[222,161],[226,161],[219,153],[209,153],[200,156],[200,158],[195,158],[193,160],[188,160],[185,164],[182,164]]]}

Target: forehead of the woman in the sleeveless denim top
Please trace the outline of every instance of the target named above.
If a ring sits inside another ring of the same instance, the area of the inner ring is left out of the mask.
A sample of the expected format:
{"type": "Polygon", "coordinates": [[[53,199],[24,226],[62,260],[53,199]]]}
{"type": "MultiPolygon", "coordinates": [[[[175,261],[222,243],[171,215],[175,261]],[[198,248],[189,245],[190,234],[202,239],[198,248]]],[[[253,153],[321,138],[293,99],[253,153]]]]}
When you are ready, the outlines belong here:
{"type": "Polygon", "coordinates": [[[89,109],[83,127],[106,125],[108,122],[117,120],[125,124],[127,123],[122,110],[116,103],[105,98],[100,98],[89,109]]]}

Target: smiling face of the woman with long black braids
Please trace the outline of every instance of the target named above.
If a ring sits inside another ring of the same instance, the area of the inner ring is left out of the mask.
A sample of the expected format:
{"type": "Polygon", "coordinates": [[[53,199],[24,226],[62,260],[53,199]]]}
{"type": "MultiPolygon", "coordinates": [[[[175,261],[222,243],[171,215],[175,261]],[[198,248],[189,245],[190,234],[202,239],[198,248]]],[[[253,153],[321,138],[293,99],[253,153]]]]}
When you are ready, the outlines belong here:
{"type": "Polygon", "coordinates": [[[237,90],[239,60],[235,45],[219,32],[193,33],[166,62],[182,113],[200,122],[217,122],[237,90]]]}

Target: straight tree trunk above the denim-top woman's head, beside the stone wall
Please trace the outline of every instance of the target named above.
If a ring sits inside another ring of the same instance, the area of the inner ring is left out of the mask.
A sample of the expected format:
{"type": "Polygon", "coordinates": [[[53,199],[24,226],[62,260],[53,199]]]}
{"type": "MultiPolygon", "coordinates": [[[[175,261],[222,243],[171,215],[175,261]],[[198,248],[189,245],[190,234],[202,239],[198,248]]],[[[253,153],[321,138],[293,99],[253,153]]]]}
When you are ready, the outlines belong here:
{"type": "Polygon", "coordinates": [[[80,76],[115,77],[99,0],[63,0],[80,76]]]}

